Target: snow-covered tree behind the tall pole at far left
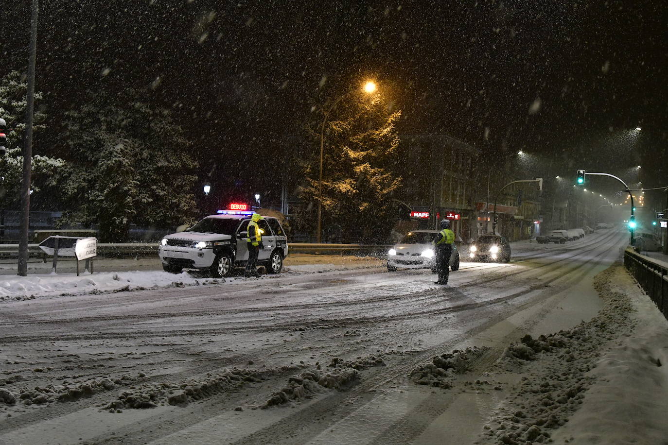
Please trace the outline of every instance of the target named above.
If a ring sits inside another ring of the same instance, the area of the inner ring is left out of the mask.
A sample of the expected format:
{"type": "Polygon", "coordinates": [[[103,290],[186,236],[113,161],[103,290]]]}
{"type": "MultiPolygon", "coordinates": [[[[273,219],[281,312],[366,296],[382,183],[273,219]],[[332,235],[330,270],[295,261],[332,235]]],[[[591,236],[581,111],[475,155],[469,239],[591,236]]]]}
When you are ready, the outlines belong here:
{"type": "MultiPolygon", "coordinates": [[[[0,206],[17,209],[21,201],[21,179],[23,177],[23,131],[25,129],[25,105],[27,83],[19,71],[11,71],[0,78],[0,117],[7,121],[7,154],[0,157],[0,206]]],[[[35,92],[35,104],[39,104],[42,93],[35,92]]],[[[38,136],[45,129],[46,115],[35,106],[33,134],[38,136]]],[[[61,165],[61,159],[39,154],[41,147],[33,147],[31,189],[39,191],[43,185],[53,181],[53,173],[61,165]],[[35,154],[37,153],[37,154],[35,154]]]]}

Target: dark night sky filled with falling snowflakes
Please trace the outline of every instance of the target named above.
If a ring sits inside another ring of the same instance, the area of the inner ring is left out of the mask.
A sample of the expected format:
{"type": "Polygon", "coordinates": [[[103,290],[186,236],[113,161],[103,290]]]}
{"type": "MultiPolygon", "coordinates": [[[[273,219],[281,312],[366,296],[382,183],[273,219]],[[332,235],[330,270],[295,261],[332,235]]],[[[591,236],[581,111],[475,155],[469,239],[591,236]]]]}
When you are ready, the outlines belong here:
{"type": "MultiPolygon", "coordinates": [[[[27,58],[29,1],[8,3],[0,74],[27,58]]],[[[668,182],[667,9],[647,0],[42,0],[37,88],[52,117],[86,89],[149,88],[206,162],[236,168],[249,147],[273,149],[371,77],[403,111],[401,133],[447,133],[508,158],[522,149],[532,176],[580,166],[624,175],[640,163],[634,180],[668,182]]]]}

